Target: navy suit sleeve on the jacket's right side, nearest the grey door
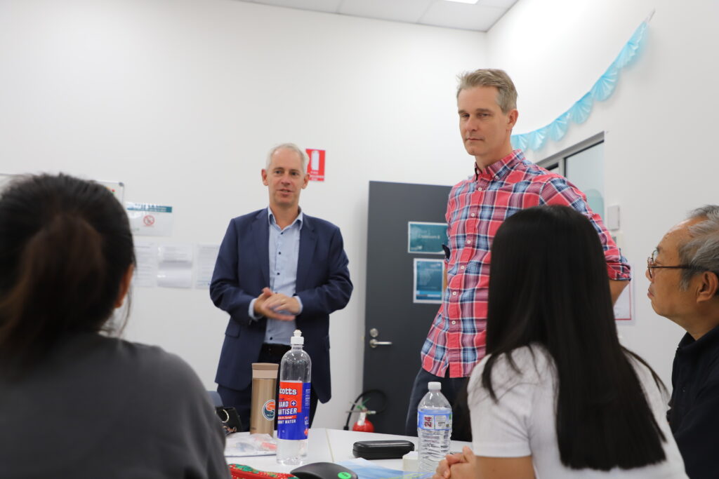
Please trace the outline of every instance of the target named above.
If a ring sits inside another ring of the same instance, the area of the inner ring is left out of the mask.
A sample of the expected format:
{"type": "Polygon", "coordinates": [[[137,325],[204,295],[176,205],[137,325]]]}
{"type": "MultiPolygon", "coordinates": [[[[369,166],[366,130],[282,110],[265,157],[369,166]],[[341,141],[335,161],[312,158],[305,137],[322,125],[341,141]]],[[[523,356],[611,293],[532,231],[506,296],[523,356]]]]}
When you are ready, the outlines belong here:
{"type": "Polygon", "coordinates": [[[347,269],[349,260],[344,253],[344,242],[339,228],[334,228],[332,232],[327,261],[326,282],[319,287],[296,293],[302,302],[301,316],[329,315],[336,310],[342,310],[349,302],[352,282],[349,280],[349,269],[347,269]]]}

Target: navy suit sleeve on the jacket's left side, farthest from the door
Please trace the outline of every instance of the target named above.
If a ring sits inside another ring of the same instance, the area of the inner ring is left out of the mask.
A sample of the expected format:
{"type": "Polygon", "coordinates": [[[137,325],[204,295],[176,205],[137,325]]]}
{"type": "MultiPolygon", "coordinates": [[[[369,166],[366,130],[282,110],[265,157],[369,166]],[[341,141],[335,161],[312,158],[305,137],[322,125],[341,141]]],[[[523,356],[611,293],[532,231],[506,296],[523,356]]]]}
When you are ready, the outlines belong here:
{"type": "Polygon", "coordinates": [[[237,239],[237,225],[231,221],[217,254],[210,283],[210,298],[216,307],[228,312],[233,320],[247,325],[252,320],[249,317],[249,302],[255,296],[239,286],[237,239]]]}

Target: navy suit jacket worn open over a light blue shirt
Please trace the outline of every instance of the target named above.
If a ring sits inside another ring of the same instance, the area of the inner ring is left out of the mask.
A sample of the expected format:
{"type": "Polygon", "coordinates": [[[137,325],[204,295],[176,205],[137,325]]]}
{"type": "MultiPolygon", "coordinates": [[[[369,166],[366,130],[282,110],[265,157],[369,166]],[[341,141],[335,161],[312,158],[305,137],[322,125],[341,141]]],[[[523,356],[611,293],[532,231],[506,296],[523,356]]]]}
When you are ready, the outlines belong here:
{"type": "MultiPolygon", "coordinates": [[[[215,382],[242,390],[252,381],[252,363],[260,357],[267,318],[252,320],[249,303],[270,287],[270,230],[267,208],[233,218],[222,240],[210,283],[210,297],[230,320],[215,382]]],[[[349,302],[347,255],[342,234],[329,221],[303,215],[297,264],[296,317],[312,360],[312,386],[321,402],[329,401],[329,314],[349,302]]]]}

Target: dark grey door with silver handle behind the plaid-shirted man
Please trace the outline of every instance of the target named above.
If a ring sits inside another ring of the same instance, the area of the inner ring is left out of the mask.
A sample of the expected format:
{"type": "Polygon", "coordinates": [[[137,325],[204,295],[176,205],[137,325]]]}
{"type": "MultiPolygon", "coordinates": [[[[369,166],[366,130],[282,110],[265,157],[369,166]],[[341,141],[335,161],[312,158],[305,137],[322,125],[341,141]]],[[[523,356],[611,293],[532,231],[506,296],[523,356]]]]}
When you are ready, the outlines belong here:
{"type": "Polygon", "coordinates": [[[408,221],[444,223],[449,186],[370,182],[367,221],[365,367],[362,390],[369,409],[385,409],[368,419],[375,432],[404,434],[419,353],[439,304],[413,303],[413,260],[441,255],[407,252],[408,221]],[[370,331],[376,333],[373,338],[370,331]],[[370,346],[370,340],[391,345],[370,346]]]}

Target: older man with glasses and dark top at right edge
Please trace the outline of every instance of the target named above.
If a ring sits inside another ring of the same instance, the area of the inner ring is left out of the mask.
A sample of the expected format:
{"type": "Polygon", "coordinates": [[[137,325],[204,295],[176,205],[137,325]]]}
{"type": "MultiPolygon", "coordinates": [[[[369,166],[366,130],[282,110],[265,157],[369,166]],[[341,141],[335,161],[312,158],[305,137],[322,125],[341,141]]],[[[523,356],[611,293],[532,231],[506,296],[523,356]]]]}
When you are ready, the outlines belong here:
{"type": "Polygon", "coordinates": [[[672,369],[667,419],[692,479],[719,478],[719,206],[690,213],[647,259],[656,314],[687,334],[672,369]]]}

